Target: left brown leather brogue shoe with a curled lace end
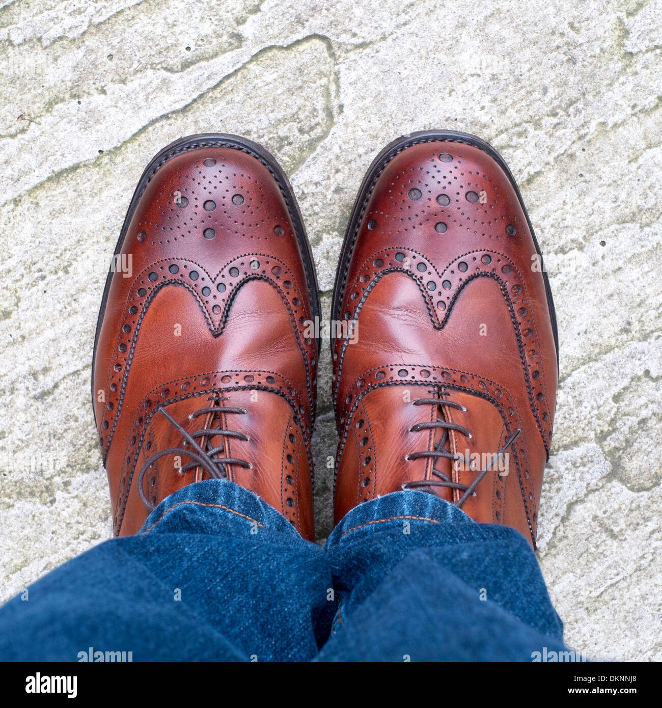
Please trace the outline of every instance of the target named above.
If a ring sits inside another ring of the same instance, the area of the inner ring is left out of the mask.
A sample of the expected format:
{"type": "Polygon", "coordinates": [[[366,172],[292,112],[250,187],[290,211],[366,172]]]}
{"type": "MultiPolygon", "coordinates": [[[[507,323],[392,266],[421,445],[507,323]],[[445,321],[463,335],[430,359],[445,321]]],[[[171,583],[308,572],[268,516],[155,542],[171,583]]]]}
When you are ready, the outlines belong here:
{"type": "Polygon", "coordinates": [[[319,316],[283,170],[194,135],[139,181],[103,293],[92,396],[115,535],[182,486],[227,478],[314,536],[310,434],[319,316]]]}

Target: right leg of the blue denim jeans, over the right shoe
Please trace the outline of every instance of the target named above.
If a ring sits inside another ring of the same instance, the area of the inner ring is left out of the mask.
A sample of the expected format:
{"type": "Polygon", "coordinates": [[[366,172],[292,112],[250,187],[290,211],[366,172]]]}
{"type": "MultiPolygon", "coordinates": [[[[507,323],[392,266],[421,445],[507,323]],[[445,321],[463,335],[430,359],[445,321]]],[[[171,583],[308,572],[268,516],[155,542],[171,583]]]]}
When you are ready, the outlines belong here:
{"type": "Polygon", "coordinates": [[[319,661],[531,661],[563,625],[509,527],[423,492],[356,507],[326,544],[339,607],[319,661]]]}

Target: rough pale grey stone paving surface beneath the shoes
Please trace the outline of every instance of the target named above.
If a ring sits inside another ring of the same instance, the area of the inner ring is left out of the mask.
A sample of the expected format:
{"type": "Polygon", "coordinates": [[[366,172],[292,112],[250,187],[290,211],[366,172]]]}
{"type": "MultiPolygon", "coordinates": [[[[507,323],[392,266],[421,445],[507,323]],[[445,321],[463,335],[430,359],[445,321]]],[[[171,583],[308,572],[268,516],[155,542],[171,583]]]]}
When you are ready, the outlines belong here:
{"type": "MultiPolygon", "coordinates": [[[[561,389],[539,554],[566,639],[659,661],[661,16],[661,0],[0,0],[0,598],[110,537],[93,330],[150,157],[194,132],[265,144],[328,312],[372,156],[451,127],[506,158],[547,256],[561,389]]],[[[319,381],[324,536],[326,348],[319,381]]]]}

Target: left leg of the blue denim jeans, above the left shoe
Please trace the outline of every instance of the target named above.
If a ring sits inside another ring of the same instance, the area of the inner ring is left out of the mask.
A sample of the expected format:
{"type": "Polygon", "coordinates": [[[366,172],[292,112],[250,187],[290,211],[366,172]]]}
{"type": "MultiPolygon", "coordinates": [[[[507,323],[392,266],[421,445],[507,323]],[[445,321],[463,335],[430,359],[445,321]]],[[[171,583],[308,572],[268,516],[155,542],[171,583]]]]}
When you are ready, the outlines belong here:
{"type": "Polygon", "coordinates": [[[305,661],[316,629],[328,632],[331,582],[321,547],[255,494],[210,479],[0,608],[0,660],[78,661],[93,647],[133,661],[305,661]]]}

